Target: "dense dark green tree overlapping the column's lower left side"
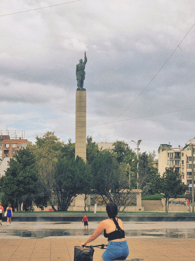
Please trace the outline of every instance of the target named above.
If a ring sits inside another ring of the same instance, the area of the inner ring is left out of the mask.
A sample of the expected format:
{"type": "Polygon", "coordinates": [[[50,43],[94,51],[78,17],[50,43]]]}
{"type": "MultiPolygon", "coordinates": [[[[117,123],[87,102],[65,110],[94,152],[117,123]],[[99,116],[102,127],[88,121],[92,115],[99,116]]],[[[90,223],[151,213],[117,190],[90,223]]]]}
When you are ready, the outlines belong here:
{"type": "Polygon", "coordinates": [[[57,198],[58,211],[67,211],[76,195],[82,193],[83,184],[80,177],[85,163],[79,156],[58,158],[54,172],[54,194],[57,198]]]}

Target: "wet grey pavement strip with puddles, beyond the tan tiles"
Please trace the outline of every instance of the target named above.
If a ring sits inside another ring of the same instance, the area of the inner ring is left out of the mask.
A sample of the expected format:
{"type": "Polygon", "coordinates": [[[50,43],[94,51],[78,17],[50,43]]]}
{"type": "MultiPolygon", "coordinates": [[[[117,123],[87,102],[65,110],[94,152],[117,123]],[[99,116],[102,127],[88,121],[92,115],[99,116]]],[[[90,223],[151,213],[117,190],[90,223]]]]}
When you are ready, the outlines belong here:
{"type": "MultiPolygon", "coordinates": [[[[94,233],[99,222],[90,222],[83,231],[82,222],[12,222],[0,226],[5,238],[78,238],[94,233]]],[[[126,238],[195,238],[194,222],[124,222],[126,238]]],[[[103,238],[103,235],[100,236],[103,238]]]]}

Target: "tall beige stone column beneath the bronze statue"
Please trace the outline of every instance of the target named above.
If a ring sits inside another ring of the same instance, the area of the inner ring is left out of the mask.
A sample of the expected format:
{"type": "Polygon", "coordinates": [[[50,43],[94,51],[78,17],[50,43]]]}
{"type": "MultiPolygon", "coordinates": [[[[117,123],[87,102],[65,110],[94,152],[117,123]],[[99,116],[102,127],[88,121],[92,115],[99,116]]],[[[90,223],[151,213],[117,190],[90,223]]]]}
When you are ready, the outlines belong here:
{"type": "Polygon", "coordinates": [[[86,90],[76,91],[75,158],[86,161],[86,90]]]}

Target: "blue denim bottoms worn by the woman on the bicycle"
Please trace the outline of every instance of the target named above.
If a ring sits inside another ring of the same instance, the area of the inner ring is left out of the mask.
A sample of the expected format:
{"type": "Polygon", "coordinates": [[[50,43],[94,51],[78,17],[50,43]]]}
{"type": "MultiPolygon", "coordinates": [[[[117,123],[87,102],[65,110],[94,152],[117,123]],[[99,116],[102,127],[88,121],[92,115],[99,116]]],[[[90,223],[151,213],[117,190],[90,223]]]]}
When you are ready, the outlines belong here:
{"type": "Polygon", "coordinates": [[[118,257],[127,258],[129,254],[129,247],[127,241],[109,241],[106,251],[103,252],[102,258],[104,261],[112,261],[118,257]]]}

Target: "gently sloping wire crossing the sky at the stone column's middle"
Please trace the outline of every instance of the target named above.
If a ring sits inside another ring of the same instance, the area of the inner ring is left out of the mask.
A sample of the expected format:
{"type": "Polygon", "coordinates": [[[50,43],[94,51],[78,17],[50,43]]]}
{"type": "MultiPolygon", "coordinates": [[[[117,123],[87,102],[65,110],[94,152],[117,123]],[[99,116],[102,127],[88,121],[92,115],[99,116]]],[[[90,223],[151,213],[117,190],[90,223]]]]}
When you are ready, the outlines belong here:
{"type": "MultiPolygon", "coordinates": [[[[194,108],[189,108],[189,109],[177,110],[177,111],[162,112],[162,113],[158,113],[158,114],[152,114],[152,115],[141,116],[141,117],[136,117],[136,118],[130,118],[130,119],[125,119],[125,120],[119,120],[119,121],[114,121],[114,122],[113,122],[113,121],[110,121],[110,122],[105,122],[105,123],[90,125],[90,126],[87,126],[87,128],[89,128],[89,127],[96,127],[96,126],[100,126],[100,125],[105,125],[105,124],[109,124],[109,123],[136,120],[136,119],[141,119],[141,118],[147,118],[147,117],[152,117],[152,116],[158,116],[158,115],[169,114],[169,113],[179,112],[179,111],[193,110],[193,109],[195,109],[195,107],[194,107],[194,108]]],[[[82,127],[81,127],[81,128],[82,128],[82,127]]],[[[68,129],[68,130],[65,130],[65,131],[56,131],[55,133],[66,132],[66,131],[74,131],[74,130],[75,130],[75,128],[74,128],[74,129],[68,129]]],[[[37,136],[41,136],[41,135],[43,135],[43,134],[38,134],[37,136]]],[[[28,136],[27,138],[30,138],[30,137],[35,137],[35,135],[28,136]]]]}

